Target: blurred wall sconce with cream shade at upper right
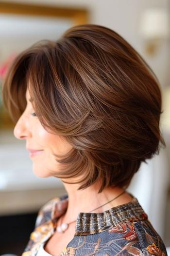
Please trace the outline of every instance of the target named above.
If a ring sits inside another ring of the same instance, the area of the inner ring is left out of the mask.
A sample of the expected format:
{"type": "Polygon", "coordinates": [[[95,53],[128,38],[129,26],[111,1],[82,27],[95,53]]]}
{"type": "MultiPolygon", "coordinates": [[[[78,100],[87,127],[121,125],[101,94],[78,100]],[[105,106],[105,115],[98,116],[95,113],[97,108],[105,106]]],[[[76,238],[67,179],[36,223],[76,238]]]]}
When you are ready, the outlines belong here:
{"type": "Polygon", "coordinates": [[[145,40],[147,55],[155,55],[165,39],[170,36],[167,9],[147,9],[141,16],[139,33],[145,40]]]}

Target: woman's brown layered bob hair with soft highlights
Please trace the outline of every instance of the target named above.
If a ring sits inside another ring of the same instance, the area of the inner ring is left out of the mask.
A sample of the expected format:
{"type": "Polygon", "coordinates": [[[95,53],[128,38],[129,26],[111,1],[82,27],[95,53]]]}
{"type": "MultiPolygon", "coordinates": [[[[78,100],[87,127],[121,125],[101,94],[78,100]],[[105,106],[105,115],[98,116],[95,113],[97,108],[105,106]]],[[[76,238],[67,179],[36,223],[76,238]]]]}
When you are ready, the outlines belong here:
{"type": "Polygon", "coordinates": [[[160,143],[166,146],[159,127],[159,82],[109,28],[77,25],[56,41],[42,40],[21,52],[2,87],[15,122],[26,107],[27,87],[43,127],[73,147],[56,155],[61,170],[53,175],[81,176],[78,189],[96,181],[102,181],[98,193],[107,186],[127,187],[141,162],[159,154],[160,143]]]}

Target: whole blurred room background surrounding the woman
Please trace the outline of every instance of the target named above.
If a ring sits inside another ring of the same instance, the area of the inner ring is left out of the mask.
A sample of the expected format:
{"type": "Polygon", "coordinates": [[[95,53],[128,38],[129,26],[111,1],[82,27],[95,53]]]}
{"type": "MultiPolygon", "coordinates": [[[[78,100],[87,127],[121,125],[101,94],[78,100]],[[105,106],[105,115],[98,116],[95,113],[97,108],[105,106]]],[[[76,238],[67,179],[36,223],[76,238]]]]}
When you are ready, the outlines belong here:
{"type": "MultiPolygon", "coordinates": [[[[141,54],[160,81],[161,131],[167,147],[143,163],[129,187],[153,227],[170,246],[170,0],[0,0],[0,93],[13,58],[41,39],[94,23],[118,32],[141,54]],[[142,184],[142,186],[141,186],[142,184]]],[[[134,70],[135,72],[135,70],[134,70]]],[[[66,191],[57,178],[38,178],[25,141],[13,135],[0,96],[0,255],[20,255],[38,209],[66,191]]]]}

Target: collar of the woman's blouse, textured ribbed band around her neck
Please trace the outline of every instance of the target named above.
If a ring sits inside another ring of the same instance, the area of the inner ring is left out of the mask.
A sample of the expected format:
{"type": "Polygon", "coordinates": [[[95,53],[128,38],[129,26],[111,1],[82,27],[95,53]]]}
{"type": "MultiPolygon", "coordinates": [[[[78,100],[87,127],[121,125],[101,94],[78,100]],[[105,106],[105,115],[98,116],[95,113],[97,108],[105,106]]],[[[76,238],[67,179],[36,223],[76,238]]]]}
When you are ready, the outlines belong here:
{"type": "MultiPolygon", "coordinates": [[[[100,233],[108,228],[148,219],[136,197],[129,193],[133,199],[125,204],[113,207],[102,213],[79,213],[76,219],[75,236],[100,233]]],[[[59,197],[53,202],[51,220],[53,225],[56,220],[66,212],[68,207],[68,194],[59,197]]],[[[55,225],[54,225],[55,226],[55,225]]]]}

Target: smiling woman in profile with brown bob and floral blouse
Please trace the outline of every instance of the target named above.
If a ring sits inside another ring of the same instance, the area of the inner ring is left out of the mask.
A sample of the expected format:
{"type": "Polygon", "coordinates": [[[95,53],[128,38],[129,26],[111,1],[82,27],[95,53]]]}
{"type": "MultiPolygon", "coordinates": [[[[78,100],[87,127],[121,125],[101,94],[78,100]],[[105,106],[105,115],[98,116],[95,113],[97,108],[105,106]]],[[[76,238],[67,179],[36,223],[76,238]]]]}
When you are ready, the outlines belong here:
{"type": "MultiPolygon", "coordinates": [[[[165,146],[153,72],[113,30],[69,28],[17,56],[3,101],[38,177],[67,193],[39,210],[22,256],[166,256],[137,198],[126,191],[141,162],[165,146]]],[[[147,177],[146,177],[147,178],[147,177]]]]}

